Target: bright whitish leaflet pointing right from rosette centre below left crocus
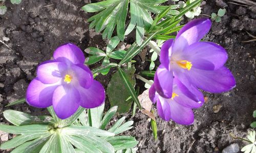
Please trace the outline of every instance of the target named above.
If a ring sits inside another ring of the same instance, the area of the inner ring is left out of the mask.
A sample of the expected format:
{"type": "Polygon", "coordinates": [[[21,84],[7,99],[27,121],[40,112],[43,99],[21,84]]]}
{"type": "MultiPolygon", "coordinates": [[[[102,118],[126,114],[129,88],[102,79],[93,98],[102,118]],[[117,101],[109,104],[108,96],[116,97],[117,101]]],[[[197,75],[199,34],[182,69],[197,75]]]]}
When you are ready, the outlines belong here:
{"type": "Polygon", "coordinates": [[[69,127],[64,127],[61,131],[63,134],[68,134],[68,135],[80,135],[80,134],[86,134],[88,136],[103,136],[103,137],[111,137],[114,136],[114,133],[104,131],[97,129],[95,127],[91,126],[69,126],[69,127]]]}

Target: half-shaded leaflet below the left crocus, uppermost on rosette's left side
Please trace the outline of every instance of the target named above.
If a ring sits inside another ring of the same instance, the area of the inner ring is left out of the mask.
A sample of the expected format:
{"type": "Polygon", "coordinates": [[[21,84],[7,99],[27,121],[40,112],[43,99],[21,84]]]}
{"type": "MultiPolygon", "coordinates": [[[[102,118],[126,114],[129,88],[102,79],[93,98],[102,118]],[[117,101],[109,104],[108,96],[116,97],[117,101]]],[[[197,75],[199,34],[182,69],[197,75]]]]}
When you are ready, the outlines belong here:
{"type": "Polygon", "coordinates": [[[3,112],[4,117],[14,125],[28,125],[28,124],[48,124],[54,122],[54,119],[51,116],[31,116],[29,114],[14,111],[6,110],[3,112]]]}

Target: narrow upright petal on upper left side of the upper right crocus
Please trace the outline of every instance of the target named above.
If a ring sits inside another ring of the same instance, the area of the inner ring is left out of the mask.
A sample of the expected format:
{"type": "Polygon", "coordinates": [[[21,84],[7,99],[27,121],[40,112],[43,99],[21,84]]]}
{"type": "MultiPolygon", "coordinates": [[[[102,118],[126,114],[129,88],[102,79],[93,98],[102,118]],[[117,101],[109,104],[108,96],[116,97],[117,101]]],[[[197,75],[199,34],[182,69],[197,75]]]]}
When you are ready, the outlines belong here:
{"type": "Polygon", "coordinates": [[[170,56],[173,50],[174,39],[165,41],[161,47],[160,62],[166,68],[169,69],[170,56]]]}

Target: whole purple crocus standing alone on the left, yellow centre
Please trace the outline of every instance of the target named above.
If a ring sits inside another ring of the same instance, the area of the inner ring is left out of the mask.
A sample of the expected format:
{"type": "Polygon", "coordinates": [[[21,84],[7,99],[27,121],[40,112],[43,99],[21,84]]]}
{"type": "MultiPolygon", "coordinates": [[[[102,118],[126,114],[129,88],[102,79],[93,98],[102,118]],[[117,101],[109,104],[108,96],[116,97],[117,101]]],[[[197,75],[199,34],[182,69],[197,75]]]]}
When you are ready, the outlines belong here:
{"type": "Polygon", "coordinates": [[[26,100],[38,108],[53,106],[56,115],[66,119],[79,106],[95,108],[105,99],[103,86],[93,80],[91,70],[83,65],[84,55],[75,44],[59,46],[54,60],[41,63],[37,77],[28,86],[26,100]]]}

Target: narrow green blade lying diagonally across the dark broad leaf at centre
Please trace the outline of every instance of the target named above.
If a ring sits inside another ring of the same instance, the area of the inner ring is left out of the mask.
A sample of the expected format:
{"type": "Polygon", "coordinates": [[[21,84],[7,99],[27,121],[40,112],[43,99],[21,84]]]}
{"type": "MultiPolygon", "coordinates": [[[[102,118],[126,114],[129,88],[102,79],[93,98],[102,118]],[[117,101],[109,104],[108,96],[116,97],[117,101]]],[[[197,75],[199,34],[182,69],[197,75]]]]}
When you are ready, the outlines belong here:
{"type": "Polygon", "coordinates": [[[136,92],[134,90],[134,87],[131,85],[131,83],[129,82],[126,74],[124,73],[124,71],[118,66],[118,73],[121,77],[121,79],[124,82],[124,86],[127,89],[127,91],[130,93],[130,95],[132,96],[133,100],[135,101],[135,103],[138,105],[139,109],[141,109],[141,105],[140,105],[140,101],[136,95],[136,92]]]}

